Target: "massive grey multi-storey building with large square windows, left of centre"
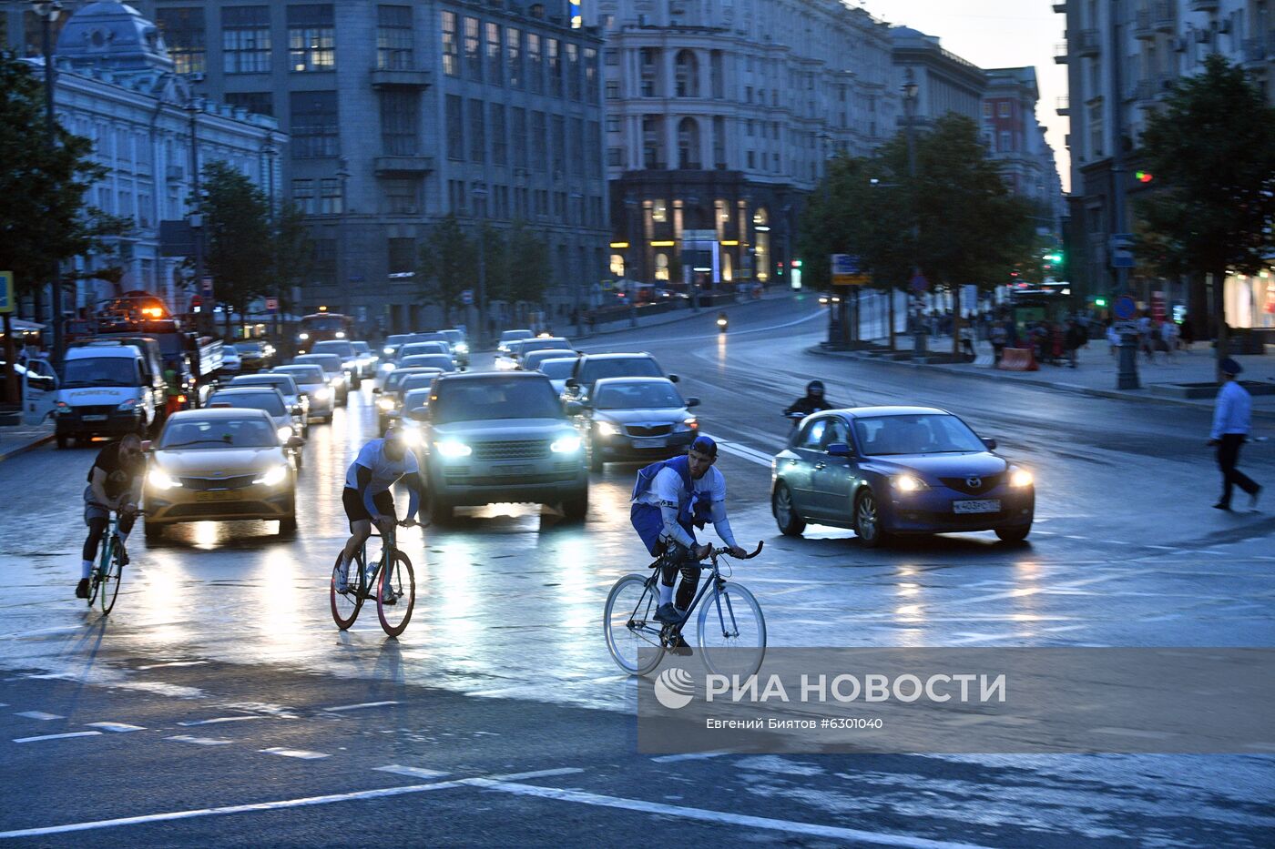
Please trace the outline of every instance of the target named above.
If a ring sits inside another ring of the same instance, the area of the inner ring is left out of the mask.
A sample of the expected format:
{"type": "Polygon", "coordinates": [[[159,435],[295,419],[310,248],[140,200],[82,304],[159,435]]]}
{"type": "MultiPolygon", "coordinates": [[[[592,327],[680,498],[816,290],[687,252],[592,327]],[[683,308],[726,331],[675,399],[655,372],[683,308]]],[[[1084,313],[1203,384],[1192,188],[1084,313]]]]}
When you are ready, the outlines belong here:
{"type": "Polygon", "coordinates": [[[440,323],[417,258],[448,213],[472,231],[479,221],[533,226],[564,310],[602,275],[602,42],[571,28],[565,4],[143,6],[196,92],[291,131],[284,194],[309,214],[315,245],[302,306],[385,331],[440,323]]]}

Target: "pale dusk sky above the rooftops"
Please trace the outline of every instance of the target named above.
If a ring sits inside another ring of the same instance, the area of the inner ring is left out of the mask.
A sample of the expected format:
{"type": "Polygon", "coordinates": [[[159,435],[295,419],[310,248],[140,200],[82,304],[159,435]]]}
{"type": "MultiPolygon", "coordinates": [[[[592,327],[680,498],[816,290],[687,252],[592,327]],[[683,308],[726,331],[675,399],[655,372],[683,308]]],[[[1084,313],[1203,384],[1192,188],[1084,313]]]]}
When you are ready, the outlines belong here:
{"type": "Polygon", "coordinates": [[[945,48],[979,68],[1034,65],[1040,85],[1037,119],[1048,130],[1062,187],[1070,189],[1071,161],[1063,147],[1068,125],[1054,112],[1057,98],[1067,93],[1067,66],[1053,61],[1054,45],[1065,41],[1066,17],[1054,14],[1052,0],[862,0],[859,5],[892,24],[938,36],[945,48]]]}

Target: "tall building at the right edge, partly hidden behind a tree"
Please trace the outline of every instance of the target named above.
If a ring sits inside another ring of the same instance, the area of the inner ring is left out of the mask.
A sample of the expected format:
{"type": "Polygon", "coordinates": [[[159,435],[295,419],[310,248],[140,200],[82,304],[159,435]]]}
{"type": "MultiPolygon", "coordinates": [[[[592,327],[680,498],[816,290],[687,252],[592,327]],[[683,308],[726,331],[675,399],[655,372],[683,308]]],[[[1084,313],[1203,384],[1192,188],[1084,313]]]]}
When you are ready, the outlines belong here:
{"type": "MultiPolygon", "coordinates": [[[[1070,241],[1072,280],[1088,297],[1117,288],[1111,237],[1133,231],[1133,201],[1154,190],[1136,180],[1136,150],[1148,116],[1160,108],[1169,84],[1197,74],[1210,54],[1250,71],[1275,103],[1271,84],[1275,18],[1269,0],[1065,0],[1066,62],[1071,120],[1070,241]],[[1116,153],[1122,162],[1116,168],[1116,153]],[[1117,199],[1118,195],[1118,199],[1117,199]],[[1119,203],[1117,203],[1117,200],[1119,203]]],[[[1187,283],[1135,266],[1127,288],[1144,303],[1188,306],[1187,283]]],[[[1275,275],[1225,282],[1227,323],[1275,326],[1275,275]]],[[[1200,310],[1204,305],[1190,305],[1200,310]]]]}

